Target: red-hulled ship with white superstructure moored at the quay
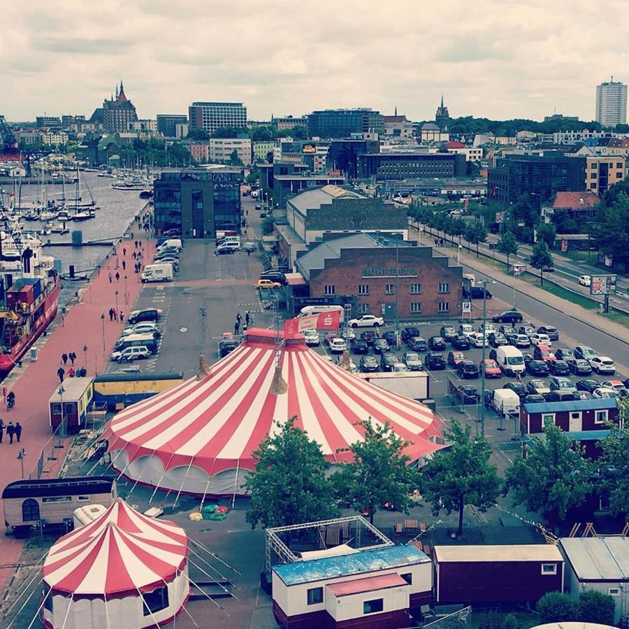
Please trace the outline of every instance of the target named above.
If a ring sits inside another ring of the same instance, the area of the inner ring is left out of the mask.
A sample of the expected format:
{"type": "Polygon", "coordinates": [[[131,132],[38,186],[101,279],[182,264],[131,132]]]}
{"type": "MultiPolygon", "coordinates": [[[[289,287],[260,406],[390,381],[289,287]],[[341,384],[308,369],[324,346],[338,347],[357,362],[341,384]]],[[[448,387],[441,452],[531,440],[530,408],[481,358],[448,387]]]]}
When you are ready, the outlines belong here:
{"type": "Polygon", "coordinates": [[[0,377],[4,377],[55,319],[59,275],[55,259],[43,255],[37,236],[3,231],[0,280],[0,377]]]}

